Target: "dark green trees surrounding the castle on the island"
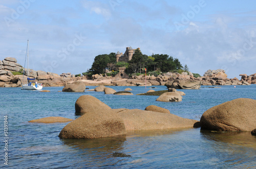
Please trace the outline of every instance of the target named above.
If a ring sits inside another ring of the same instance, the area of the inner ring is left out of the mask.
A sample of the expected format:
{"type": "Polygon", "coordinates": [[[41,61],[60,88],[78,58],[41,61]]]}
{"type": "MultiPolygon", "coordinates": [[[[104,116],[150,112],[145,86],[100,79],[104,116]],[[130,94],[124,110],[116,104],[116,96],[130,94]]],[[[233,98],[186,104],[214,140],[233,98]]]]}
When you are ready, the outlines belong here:
{"type": "Polygon", "coordinates": [[[100,54],[94,58],[91,69],[87,73],[102,74],[109,71],[118,71],[119,67],[126,67],[126,73],[141,73],[145,70],[147,72],[161,71],[161,72],[177,72],[188,71],[187,65],[181,65],[177,58],[173,58],[168,54],[152,54],[148,56],[142,54],[139,49],[136,49],[132,60],[129,62],[116,62],[116,54],[100,54]]]}

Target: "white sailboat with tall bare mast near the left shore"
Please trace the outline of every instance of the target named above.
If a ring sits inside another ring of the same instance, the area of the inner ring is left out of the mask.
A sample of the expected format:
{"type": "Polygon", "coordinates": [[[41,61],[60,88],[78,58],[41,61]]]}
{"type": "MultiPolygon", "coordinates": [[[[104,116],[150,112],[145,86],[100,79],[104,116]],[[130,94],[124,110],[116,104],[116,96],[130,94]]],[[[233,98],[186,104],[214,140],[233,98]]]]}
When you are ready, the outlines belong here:
{"type": "Polygon", "coordinates": [[[25,66],[24,66],[24,70],[23,70],[23,79],[24,79],[24,74],[25,74],[26,59],[27,59],[27,84],[25,84],[25,85],[22,84],[22,89],[24,89],[24,90],[41,90],[42,84],[37,83],[37,81],[35,81],[35,78],[29,78],[29,40],[28,40],[28,44],[27,44],[25,66]]]}

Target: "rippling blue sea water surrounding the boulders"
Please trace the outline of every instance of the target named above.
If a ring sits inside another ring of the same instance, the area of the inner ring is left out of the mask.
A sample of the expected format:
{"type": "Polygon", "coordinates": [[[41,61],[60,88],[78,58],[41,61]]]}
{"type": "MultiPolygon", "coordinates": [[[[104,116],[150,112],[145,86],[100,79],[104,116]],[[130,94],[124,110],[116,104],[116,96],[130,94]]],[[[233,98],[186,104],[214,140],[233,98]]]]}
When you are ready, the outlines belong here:
{"type": "MultiPolygon", "coordinates": [[[[164,86],[155,86],[165,90],[164,86]]],[[[200,120],[208,108],[236,98],[256,99],[256,85],[223,86],[185,92],[181,102],[157,102],[158,96],[116,96],[103,92],[65,93],[63,87],[45,87],[49,93],[0,88],[0,125],[8,116],[8,167],[11,168],[256,168],[256,136],[250,132],[215,133],[195,129],[131,131],[126,136],[99,139],[60,139],[68,123],[28,123],[60,116],[76,119],[75,102],[92,95],[111,108],[157,105],[183,118],[200,120]],[[114,152],[132,155],[115,158],[114,152]]],[[[89,87],[93,89],[95,87],[89,87]]],[[[123,91],[127,87],[111,87],[123,91]]],[[[149,87],[129,87],[133,94],[149,87]]],[[[1,127],[1,139],[4,129],[1,127]]],[[[4,142],[1,162],[4,164],[4,142]]]]}

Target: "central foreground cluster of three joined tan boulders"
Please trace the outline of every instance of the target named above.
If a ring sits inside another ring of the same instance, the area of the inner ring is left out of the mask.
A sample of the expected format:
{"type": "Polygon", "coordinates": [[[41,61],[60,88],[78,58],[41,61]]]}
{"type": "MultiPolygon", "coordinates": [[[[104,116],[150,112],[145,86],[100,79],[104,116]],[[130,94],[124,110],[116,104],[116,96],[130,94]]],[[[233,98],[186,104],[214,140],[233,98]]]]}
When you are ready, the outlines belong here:
{"type": "Polygon", "coordinates": [[[151,110],[112,109],[89,95],[80,96],[75,108],[76,114],[82,116],[65,126],[59,133],[60,138],[109,137],[125,134],[127,130],[193,127],[198,122],[151,110]]]}

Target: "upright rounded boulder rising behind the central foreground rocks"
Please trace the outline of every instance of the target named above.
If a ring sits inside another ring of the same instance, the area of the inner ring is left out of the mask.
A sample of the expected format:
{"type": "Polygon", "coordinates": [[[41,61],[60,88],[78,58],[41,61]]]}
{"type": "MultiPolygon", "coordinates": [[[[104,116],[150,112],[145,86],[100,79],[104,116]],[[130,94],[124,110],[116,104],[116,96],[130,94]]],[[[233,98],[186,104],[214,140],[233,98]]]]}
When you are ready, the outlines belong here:
{"type": "Polygon", "coordinates": [[[109,109],[111,109],[110,106],[90,95],[80,96],[75,103],[76,114],[86,114],[87,112],[96,113],[97,111],[109,109]]]}

